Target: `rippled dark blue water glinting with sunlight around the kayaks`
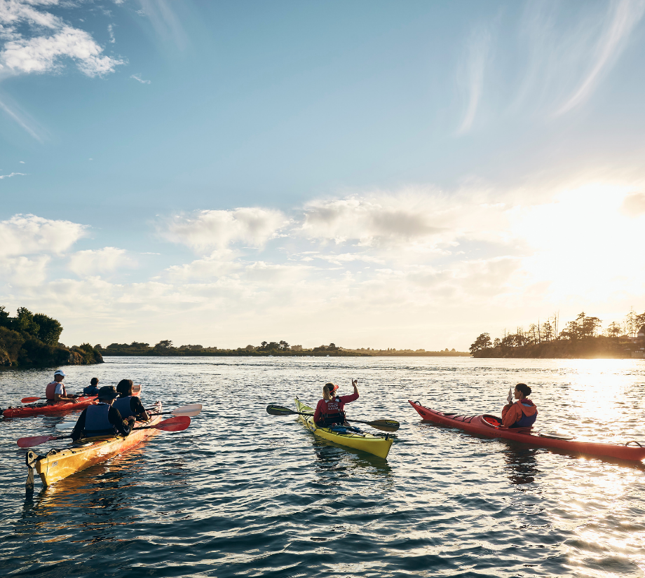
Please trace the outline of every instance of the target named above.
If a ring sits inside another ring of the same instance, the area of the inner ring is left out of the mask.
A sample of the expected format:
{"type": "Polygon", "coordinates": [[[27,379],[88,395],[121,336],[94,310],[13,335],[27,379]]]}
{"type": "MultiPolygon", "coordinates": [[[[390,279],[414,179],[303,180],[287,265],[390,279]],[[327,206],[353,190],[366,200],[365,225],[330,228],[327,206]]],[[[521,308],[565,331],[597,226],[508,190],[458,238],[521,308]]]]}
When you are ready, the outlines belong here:
{"type": "MultiPolygon", "coordinates": [[[[1,574],[644,575],[644,467],[479,439],[425,424],[407,404],[499,414],[522,380],[543,431],[645,441],[643,361],[108,357],[65,371],[71,391],[93,376],[132,378],[144,401],[204,411],[47,490],[36,476],[31,499],[15,440],[63,418],[0,422],[1,574]],[[266,414],[295,394],[315,402],[327,380],[348,394],[351,378],[350,415],[401,422],[388,460],[266,414]]],[[[43,392],[50,373],[1,372],[0,406],[43,392]]]]}

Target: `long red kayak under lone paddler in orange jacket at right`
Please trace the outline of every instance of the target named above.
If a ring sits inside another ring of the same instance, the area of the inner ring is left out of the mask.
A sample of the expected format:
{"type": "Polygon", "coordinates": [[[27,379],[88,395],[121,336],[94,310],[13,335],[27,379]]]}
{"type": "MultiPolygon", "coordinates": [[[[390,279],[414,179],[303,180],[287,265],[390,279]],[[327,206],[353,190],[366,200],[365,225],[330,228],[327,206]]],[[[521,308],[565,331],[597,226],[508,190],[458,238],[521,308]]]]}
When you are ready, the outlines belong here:
{"type": "Polygon", "coordinates": [[[641,462],[645,459],[645,447],[637,441],[629,441],[636,444],[630,446],[618,446],[613,443],[592,443],[590,441],[572,441],[557,436],[549,436],[531,432],[531,427],[508,428],[501,425],[501,419],[494,415],[456,415],[456,413],[442,413],[430,408],[423,407],[419,401],[410,401],[409,404],[419,412],[423,420],[429,422],[457,427],[471,434],[482,436],[511,439],[530,443],[531,446],[561,450],[573,455],[596,455],[600,457],[613,457],[617,460],[631,460],[641,462]]]}

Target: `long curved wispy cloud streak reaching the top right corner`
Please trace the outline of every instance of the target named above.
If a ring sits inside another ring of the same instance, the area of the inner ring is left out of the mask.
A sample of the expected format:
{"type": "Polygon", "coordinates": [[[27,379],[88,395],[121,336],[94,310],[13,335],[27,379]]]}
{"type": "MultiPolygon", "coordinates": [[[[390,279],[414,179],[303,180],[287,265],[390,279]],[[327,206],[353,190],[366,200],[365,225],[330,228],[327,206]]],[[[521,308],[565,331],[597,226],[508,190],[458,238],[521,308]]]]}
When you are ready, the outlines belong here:
{"type": "Polygon", "coordinates": [[[590,97],[600,78],[611,69],[618,55],[625,48],[627,39],[643,17],[644,11],[645,1],[643,0],[620,0],[611,4],[608,13],[609,22],[593,53],[590,70],[557,114],[570,111],[590,97]]]}

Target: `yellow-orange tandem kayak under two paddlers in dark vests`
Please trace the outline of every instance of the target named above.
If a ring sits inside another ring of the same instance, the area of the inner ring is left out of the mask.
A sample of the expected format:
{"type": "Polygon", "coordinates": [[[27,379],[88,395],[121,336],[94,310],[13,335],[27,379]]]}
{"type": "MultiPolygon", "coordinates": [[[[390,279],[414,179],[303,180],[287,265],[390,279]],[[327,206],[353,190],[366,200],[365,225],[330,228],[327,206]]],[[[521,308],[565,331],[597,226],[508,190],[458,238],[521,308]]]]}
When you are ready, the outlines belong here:
{"type": "MultiPolygon", "coordinates": [[[[161,401],[158,401],[154,409],[149,411],[149,413],[155,412],[158,413],[152,415],[148,422],[137,422],[135,427],[155,425],[160,422],[161,401]]],[[[43,486],[50,486],[67,478],[67,476],[76,474],[76,472],[81,472],[83,469],[106,462],[111,457],[133,448],[144,439],[154,436],[158,431],[158,429],[154,428],[137,429],[130,432],[130,435],[126,437],[119,435],[83,438],[66,448],[49,450],[45,455],[37,455],[36,452],[29,450],[27,452],[29,479],[33,479],[33,469],[35,469],[43,482],[43,486]]]]}

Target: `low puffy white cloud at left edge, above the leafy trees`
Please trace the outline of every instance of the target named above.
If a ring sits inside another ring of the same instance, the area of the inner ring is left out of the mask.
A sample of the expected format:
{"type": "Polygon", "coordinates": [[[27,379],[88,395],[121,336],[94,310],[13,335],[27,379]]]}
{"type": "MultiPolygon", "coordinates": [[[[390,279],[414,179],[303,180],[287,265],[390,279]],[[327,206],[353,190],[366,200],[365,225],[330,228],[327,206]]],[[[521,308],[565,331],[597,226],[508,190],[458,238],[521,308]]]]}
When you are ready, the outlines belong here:
{"type": "Polygon", "coordinates": [[[61,254],[86,235],[87,226],[17,214],[0,221],[0,256],[61,254]]]}

